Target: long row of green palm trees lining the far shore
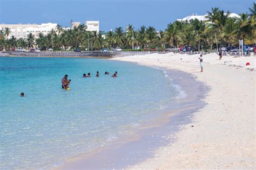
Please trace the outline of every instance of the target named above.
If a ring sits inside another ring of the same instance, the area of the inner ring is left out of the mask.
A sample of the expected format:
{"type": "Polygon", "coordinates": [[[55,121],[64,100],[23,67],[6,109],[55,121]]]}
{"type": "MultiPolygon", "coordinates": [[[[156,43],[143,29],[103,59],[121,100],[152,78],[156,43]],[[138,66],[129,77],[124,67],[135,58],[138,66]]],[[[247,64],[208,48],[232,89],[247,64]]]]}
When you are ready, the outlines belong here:
{"type": "Polygon", "coordinates": [[[132,25],[127,25],[125,30],[117,27],[114,31],[103,32],[86,31],[84,24],[73,29],[64,29],[57,25],[46,36],[39,33],[36,38],[29,33],[26,39],[16,39],[8,36],[10,29],[0,30],[0,49],[32,48],[41,50],[46,48],[99,50],[104,47],[122,47],[125,49],[159,49],[170,46],[194,46],[199,51],[219,48],[220,45],[232,46],[242,39],[247,44],[256,42],[256,3],[249,8],[249,13],[241,13],[239,17],[230,17],[230,12],[219,8],[212,8],[207,12],[206,21],[192,19],[186,22],[176,21],[167,25],[164,31],[157,31],[154,27],[141,26],[135,30],[132,25]],[[202,48],[203,47],[203,48],[202,48]]]}

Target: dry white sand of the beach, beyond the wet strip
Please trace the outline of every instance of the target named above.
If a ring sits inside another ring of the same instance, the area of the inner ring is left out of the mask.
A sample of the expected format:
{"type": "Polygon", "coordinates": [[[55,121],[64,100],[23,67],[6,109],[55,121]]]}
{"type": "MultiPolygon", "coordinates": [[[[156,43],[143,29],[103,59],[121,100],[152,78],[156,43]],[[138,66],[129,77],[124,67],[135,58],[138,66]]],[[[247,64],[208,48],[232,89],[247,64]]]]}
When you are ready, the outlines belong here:
{"type": "Polygon", "coordinates": [[[113,59],[183,70],[211,87],[208,104],[194,114],[193,123],[180,127],[176,143],[131,169],[256,168],[255,56],[219,61],[217,54],[207,54],[203,73],[198,57],[168,53],[113,59]]]}

